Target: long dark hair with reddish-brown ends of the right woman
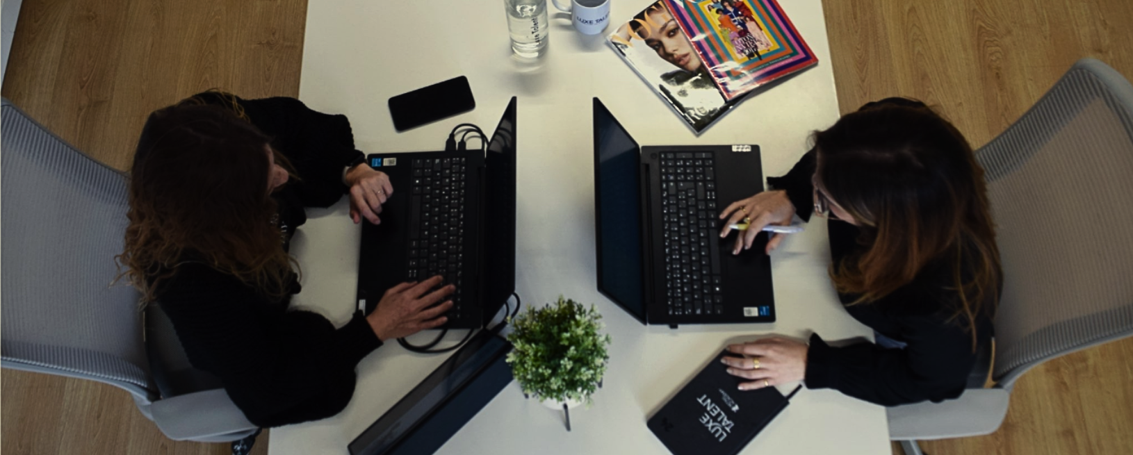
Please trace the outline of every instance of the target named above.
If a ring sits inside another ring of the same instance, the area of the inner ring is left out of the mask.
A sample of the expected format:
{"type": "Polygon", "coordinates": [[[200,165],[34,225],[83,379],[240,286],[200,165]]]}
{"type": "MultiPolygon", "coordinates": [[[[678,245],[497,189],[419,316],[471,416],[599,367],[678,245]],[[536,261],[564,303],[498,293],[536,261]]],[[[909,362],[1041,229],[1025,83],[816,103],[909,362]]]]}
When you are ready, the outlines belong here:
{"type": "Polygon", "coordinates": [[[994,317],[1002,278],[983,169],[947,120],[905,98],[871,103],[815,134],[816,182],[861,225],[860,254],[830,267],[851,304],[881,299],[930,261],[952,272],[976,344],[977,318],[994,317]]]}

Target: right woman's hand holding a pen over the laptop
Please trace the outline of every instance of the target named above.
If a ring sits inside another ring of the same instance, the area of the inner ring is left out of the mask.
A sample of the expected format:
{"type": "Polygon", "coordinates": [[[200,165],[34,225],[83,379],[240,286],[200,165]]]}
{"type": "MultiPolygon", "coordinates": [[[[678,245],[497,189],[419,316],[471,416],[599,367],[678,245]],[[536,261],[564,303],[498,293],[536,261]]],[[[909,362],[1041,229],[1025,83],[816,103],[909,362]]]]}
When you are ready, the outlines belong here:
{"type": "MultiPolygon", "coordinates": [[[[727,233],[732,231],[731,225],[741,223],[744,218],[751,218],[751,222],[748,223],[748,230],[739,231],[740,233],[735,237],[735,247],[732,249],[732,254],[739,255],[741,248],[751,248],[751,242],[756,240],[756,235],[763,231],[764,226],[768,224],[790,225],[791,220],[794,218],[794,204],[791,204],[791,199],[786,197],[786,191],[764,191],[732,203],[724,212],[721,212],[719,218],[727,218],[723,223],[724,227],[719,231],[722,238],[727,237],[727,233]]],[[[764,252],[770,255],[772,250],[778,247],[784,238],[786,238],[784,233],[772,235],[764,252]]]]}

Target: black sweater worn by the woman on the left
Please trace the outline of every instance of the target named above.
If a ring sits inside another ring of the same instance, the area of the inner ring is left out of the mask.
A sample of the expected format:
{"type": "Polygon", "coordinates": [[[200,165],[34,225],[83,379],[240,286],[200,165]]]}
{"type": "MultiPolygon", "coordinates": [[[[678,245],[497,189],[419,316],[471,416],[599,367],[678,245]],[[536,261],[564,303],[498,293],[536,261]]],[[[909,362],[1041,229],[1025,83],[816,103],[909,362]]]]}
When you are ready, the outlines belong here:
{"type": "MultiPolygon", "coordinates": [[[[219,98],[202,94],[211,103],[219,98]]],[[[305,206],[326,207],[343,195],[342,170],[361,153],[343,115],[307,109],[293,98],[240,100],[252,122],[272,137],[300,177],[273,194],[290,240],[305,206]]],[[[346,222],[346,221],[343,221],[346,222]]],[[[191,258],[189,258],[191,259],[191,258]]],[[[292,293],[299,292],[298,281],[292,293]]],[[[157,290],[194,367],[218,376],[253,423],[276,427],[334,415],[353,395],[355,367],[382,345],[361,312],[335,329],[308,311],[288,311],[246,283],[187,260],[157,290]]]]}

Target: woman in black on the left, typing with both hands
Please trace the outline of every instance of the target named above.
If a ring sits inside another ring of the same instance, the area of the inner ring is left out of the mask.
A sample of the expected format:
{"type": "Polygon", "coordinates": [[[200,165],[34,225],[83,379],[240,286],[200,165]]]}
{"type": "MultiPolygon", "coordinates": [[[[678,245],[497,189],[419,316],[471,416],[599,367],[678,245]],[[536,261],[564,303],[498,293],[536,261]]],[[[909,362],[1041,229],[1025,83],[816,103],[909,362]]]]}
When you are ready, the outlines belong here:
{"type": "Polygon", "coordinates": [[[440,277],[390,289],[343,327],[289,310],[300,291],[288,254],[304,207],[350,195],[350,215],[380,223],[389,178],[363,163],[343,115],[293,98],[210,92],[150,115],[130,169],[122,275],[160,304],[194,367],[220,378],[253,423],[340,412],[355,366],[389,338],[444,324],[440,277]]]}

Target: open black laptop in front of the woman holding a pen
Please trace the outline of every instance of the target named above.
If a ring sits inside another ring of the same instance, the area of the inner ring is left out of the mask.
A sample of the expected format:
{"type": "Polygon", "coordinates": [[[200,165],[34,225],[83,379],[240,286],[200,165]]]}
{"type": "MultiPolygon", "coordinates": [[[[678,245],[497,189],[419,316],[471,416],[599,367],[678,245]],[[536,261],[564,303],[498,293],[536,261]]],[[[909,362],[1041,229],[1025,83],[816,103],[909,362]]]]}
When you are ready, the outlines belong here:
{"type": "Polygon", "coordinates": [[[645,324],[775,320],[767,233],[732,255],[719,213],[763,191],[757,145],[639,147],[594,98],[598,291],[645,324]]]}

